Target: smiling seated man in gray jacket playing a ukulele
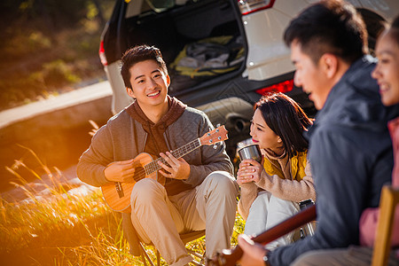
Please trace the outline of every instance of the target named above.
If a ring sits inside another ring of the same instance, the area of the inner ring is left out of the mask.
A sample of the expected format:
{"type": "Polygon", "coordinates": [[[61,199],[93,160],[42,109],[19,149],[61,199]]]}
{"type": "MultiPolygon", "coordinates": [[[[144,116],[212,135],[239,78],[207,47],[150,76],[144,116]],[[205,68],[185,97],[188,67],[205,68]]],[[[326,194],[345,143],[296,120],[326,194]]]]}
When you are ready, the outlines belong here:
{"type": "Polygon", "coordinates": [[[95,186],[135,183],[129,213],[122,214],[132,254],[140,254],[138,235],[152,242],[169,265],[187,264],[192,257],[179,233],[204,229],[207,257],[229,248],[238,186],[223,143],[201,146],[179,159],[168,152],[213,128],[207,115],[168,96],[168,70],[155,47],[126,51],[121,75],[135,102],[98,129],[78,163],[79,178],[95,186]],[[156,178],[132,181],[140,153],[163,159],[157,163],[164,185],[156,178]]]}

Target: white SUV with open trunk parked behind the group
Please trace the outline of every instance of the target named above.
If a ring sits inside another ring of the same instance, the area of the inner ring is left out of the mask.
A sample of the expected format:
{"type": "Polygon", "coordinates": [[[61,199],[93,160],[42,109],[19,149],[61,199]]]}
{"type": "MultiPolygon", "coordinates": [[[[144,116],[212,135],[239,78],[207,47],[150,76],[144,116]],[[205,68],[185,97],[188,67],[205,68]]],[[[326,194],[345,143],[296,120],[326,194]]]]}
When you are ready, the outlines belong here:
{"type": "MultiPolygon", "coordinates": [[[[146,43],[160,48],[168,64],[169,94],[229,129],[230,154],[248,136],[254,102],[269,91],[286,93],[314,114],[307,95],[293,86],[282,36],[289,21],[313,2],[117,0],[99,50],[113,89],[113,113],[131,102],[121,79],[121,55],[146,43]]],[[[372,45],[382,23],[399,11],[397,0],[348,2],[364,16],[372,45]]]]}

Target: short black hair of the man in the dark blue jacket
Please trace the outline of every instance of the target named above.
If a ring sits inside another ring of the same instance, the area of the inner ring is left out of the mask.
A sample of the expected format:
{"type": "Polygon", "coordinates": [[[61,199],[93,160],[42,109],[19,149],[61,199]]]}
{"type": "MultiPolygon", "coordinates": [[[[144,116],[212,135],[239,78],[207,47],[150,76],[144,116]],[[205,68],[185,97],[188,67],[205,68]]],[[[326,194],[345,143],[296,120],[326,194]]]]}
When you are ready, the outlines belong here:
{"type": "Polygon", "coordinates": [[[315,64],[325,53],[351,64],[368,52],[364,21],[353,5],[341,0],[310,5],[291,21],[284,41],[288,47],[298,42],[315,64]]]}

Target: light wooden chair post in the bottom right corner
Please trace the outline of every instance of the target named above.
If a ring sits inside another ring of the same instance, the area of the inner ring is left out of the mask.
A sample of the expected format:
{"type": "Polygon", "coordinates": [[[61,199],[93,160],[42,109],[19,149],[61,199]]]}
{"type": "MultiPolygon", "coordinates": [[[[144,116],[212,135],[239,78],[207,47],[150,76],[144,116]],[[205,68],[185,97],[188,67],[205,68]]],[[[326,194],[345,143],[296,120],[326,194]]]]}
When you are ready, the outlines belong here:
{"type": "Polygon", "coordinates": [[[372,252],[372,266],[387,265],[397,204],[399,204],[399,188],[393,188],[390,185],[382,187],[379,200],[379,223],[372,252]]]}

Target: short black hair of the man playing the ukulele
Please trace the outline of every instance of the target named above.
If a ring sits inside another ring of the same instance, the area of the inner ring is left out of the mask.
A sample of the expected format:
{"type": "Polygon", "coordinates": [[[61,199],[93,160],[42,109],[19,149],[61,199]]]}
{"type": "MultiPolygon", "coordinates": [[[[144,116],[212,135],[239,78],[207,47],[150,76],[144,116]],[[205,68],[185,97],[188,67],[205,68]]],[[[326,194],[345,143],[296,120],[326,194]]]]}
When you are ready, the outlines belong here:
{"type": "Polygon", "coordinates": [[[158,66],[160,66],[163,74],[168,74],[167,66],[158,48],[145,44],[137,45],[130,48],[128,51],[125,51],[121,59],[121,76],[125,83],[125,87],[131,89],[129,73],[130,67],[145,60],[154,60],[158,66]]]}

